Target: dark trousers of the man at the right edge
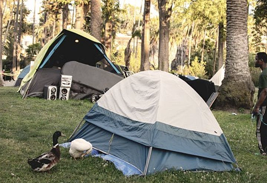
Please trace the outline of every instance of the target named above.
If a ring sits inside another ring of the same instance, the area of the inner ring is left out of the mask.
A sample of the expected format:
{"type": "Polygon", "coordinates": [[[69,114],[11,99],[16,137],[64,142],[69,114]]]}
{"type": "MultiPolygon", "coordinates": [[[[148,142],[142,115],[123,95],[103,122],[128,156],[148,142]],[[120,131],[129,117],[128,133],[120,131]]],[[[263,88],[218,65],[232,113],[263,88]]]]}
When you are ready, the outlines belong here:
{"type": "Polygon", "coordinates": [[[263,155],[267,154],[267,112],[266,106],[261,106],[261,115],[257,117],[256,135],[258,140],[258,148],[263,155]]]}

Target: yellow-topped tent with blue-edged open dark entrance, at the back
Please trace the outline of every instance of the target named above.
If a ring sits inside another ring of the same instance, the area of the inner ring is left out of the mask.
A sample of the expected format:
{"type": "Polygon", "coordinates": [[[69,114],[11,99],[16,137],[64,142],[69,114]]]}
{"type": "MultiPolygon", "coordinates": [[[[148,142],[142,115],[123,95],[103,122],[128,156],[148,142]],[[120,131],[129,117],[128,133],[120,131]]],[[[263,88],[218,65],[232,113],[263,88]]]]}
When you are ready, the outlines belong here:
{"type": "MultiPolygon", "coordinates": [[[[123,75],[123,71],[109,60],[103,44],[96,38],[79,29],[63,29],[46,43],[37,55],[34,66],[21,81],[19,87],[21,95],[26,97],[42,96],[43,86],[58,84],[59,81],[55,77],[58,77],[58,73],[60,77],[61,68],[70,61],[104,70],[112,68],[111,70],[115,74],[123,75]],[[49,74],[50,70],[51,74],[49,74]],[[40,73],[36,74],[38,72],[40,73]],[[42,83],[39,81],[30,83],[32,78],[37,77],[36,75],[43,78],[42,83]],[[52,75],[54,76],[52,77],[52,75]]],[[[76,72],[80,71],[77,70],[76,72]]]]}

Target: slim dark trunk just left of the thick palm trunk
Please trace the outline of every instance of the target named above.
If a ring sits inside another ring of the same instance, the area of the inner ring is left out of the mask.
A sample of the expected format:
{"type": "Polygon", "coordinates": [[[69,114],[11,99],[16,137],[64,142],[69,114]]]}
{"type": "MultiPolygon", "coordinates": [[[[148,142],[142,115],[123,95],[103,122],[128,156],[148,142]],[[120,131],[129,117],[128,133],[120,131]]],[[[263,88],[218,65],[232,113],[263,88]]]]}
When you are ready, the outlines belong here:
{"type": "Polygon", "coordinates": [[[219,39],[218,39],[218,70],[223,65],[223,48],[224,48],[224,25],[223,22],[219,23],[219,39]]]}

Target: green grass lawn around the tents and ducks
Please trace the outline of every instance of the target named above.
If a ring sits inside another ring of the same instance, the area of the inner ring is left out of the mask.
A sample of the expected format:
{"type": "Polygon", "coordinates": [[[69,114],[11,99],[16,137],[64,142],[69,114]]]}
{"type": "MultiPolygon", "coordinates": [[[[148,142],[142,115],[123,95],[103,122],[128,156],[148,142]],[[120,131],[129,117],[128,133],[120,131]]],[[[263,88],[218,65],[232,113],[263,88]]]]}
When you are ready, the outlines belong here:
{"type": "MultiPolygon", "coordinates": [[[[56,130],[70,136],[92,107],[88,100],[23,100],[18,88],[0,87],[0,182],[266,182],[267,157],[259,152],[250,114],[213,111],[241,172],[169,170],[146,177],[125,177],[100,158],[75,161],[61,148],[60,162],[49,173],[31,170],[27,158],[49,151],[56,130]]],[[[242,110],[241,110],[242,111],[242,110]]],[[[59,143],[67,139],[59,139],[59,143]]]]}

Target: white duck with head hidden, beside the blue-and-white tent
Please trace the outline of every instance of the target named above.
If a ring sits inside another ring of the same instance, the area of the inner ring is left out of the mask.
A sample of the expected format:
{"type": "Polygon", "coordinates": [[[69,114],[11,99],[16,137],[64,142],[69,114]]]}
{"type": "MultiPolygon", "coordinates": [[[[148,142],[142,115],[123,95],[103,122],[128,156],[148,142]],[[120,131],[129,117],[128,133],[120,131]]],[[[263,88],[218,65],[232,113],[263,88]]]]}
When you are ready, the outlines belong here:
{"type": "Polygon", "coordinates": [[[84,139],[75,139],[71,142],[70,155],[76,160],[90,154],[93,150],[91,143],[84,139]]]}

